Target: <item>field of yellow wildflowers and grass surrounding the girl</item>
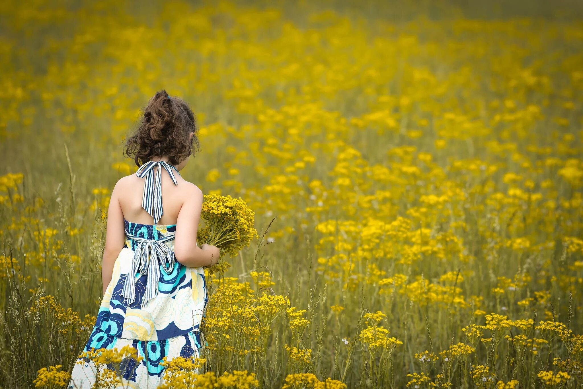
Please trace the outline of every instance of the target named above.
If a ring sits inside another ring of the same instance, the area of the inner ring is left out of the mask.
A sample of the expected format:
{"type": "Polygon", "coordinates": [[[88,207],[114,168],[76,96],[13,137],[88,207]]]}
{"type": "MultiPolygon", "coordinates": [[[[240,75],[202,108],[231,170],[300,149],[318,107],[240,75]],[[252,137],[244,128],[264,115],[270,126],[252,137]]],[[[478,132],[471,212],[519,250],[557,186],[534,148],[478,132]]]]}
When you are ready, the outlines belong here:
{"type": "Polygon", "coordinates": [[[202,359],[165,388],[583,387],[575,10],[6,1],[0,387],[68,383],[160,89],[201,127],[182,176],[260,236],[208,274],[202,359]]]}

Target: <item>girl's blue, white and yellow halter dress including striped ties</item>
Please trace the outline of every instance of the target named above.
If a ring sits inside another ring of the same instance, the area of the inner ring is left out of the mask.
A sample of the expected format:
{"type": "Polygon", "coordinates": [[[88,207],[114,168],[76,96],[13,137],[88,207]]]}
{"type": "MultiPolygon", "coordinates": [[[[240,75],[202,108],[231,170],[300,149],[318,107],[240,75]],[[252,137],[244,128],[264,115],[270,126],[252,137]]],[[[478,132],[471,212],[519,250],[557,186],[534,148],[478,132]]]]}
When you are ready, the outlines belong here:
{"type": "MultiPolygon", "coordinates": [[[[84,349],[129,345],[138,351],[143,358],[140,362],[128,358],[116,365],[120,388],[156,388],[163,383],[160,362],[164,357],[198,358],[201,347],[199,325],[208,301],[205,272],[202,267],[189,268],[175,260],[176,225],[156,225],[163,214],[162,170],[178,184],[174,176],[178,170],[163,161],[147,162],[136,171],[138,177],[145,178],[142,206],[154,224],[124,219],[125,246],[115,260],[111,282],[84,349]]],[[[69,388],[92,387],[97,369],[92,360],[79,356],[69,388]]]]}

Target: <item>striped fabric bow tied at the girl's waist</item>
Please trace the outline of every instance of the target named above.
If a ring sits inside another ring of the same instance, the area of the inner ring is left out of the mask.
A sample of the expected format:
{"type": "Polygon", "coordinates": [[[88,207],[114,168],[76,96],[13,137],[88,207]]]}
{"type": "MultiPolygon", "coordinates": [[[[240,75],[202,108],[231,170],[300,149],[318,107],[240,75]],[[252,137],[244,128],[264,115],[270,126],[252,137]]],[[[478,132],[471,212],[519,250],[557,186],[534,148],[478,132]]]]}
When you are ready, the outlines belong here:
{"type": "Polygon", "coordinates": [[[174,239],[174,234],[161,237],[159,240],[145,239],[130,233],[127,229],[125,234],[128,238],[138,242],[134,251],[134,258],[125,279],[124,288],[121,291],[122,296],[128,299],[128,304],[132,304],[135,299],[136,273],[147,275],[146,292],[142,299],[142,307],[158,295],[158,281],[160,279],[160,265],[166,274],[170,274],[174,269],[174,251],[166,246],[164,242],[174,239]]]}

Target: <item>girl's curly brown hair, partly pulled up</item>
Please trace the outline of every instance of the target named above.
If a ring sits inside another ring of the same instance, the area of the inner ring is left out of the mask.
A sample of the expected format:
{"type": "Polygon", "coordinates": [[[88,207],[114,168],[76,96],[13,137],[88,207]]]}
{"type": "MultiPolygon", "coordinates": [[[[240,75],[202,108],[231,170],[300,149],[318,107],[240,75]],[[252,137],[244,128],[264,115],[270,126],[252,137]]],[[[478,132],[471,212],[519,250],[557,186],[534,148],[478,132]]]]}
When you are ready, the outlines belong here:
{"type": "Polygon", "coordinates": [[[163,155],[170,164],[179,164],[199,148],[197,132],[196,117],[188,104],[160,90],[144,108],[140,127],[125,142],[124,155],[134,158],[138,166],[163,155]],[[194,135],[188,139],[191,132],[194,135]]]}

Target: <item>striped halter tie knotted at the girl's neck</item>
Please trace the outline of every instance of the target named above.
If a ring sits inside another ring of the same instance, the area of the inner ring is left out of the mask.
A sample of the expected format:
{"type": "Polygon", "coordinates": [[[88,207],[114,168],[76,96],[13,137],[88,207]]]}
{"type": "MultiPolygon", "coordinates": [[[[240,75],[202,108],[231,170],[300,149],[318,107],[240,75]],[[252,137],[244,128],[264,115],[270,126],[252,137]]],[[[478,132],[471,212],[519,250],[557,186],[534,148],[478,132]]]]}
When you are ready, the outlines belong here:
{"type": "Polygon", "coordinates": [[[164,209],[162,208],[162,168],[166,169],[174,185],[178,185],[178,181],[176,181],[173,173],[173,170],[178,173],[178,169],[165,161],[146,162],[136,171],[136,176],[140,178],[146,177],[142,206],[154,218],[154,225],[158,224],[158,221],[164,213],[164,209]],[[158,167],[156,173],[154,173],[154,166],[158,167]]]}

